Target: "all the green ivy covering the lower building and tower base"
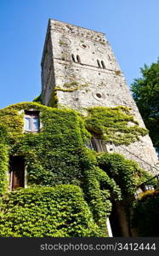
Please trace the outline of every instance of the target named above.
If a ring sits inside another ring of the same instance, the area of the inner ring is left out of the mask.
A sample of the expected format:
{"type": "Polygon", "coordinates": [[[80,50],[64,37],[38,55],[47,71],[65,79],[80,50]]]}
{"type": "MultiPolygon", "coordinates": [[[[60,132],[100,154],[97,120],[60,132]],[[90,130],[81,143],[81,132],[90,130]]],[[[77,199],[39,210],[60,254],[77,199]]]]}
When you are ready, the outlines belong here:
{"type": "Polygon", "coordinates": [[[71,109],[22,102],[0,110],[0,125],[1,236],[108,236],[106,218],[112,201],[126,201],[130,206],[136,185],[150,177],[120,154],[96,154],[86,147],[94,135],[118,144],[145,135],[147,131],[139,128],[128,108],[89,108],[83,117],[71,109]],[[24,110],[31,109],[40,113],[42,127],[37,133],[24,131],[24,110]],[[9,156],[25,160],[28,189],[5,194],[9,156]],[[54,203],[48,211],[52,201],[61,206],[63,199],[68,203],[65,209],[58,212],[54,203]],[[74,215],[76,207],[79,215],[74,215]],[[67,215],[72,216],[71,226],[65,225],[67,215]]]}

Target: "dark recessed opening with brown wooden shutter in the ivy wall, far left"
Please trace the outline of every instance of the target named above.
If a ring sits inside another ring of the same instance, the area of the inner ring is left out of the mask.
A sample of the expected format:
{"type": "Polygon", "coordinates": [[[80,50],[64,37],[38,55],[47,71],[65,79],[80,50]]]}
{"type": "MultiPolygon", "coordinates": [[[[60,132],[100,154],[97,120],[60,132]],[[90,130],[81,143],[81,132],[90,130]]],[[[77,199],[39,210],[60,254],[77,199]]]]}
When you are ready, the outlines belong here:
{"type": "Polygon", "coordinates": [[[13,156],[9,160],[10,190],[25,187],[25,160],[22,156],[13,156]]]}

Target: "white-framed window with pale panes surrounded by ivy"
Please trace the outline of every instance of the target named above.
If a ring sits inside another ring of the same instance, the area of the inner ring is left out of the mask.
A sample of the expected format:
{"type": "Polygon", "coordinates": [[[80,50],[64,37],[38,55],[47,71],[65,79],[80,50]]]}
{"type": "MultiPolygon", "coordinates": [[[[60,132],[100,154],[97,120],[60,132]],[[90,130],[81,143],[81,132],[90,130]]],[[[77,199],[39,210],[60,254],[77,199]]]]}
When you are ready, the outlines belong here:
{"type": "Polygon", "coordinates": [[[39,131],[39,113],[35,111],[25,111],[25,131],[39,131]]]}

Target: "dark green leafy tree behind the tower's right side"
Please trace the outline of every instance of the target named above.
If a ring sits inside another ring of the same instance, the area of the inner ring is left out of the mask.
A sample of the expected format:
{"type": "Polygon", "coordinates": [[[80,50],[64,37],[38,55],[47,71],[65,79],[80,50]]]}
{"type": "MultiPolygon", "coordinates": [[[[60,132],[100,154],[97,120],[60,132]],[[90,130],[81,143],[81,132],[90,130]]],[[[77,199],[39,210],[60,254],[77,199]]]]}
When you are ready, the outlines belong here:
{"type": "Polygon", "coordinates": [[[159,60],[150,67],[140,68],[142,78],[134,79],[131,84],[133,99],[144,119],[150,137],[156,148],[159,148],[159,60]]]}

